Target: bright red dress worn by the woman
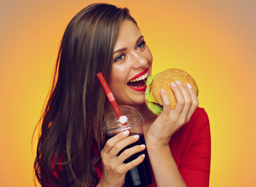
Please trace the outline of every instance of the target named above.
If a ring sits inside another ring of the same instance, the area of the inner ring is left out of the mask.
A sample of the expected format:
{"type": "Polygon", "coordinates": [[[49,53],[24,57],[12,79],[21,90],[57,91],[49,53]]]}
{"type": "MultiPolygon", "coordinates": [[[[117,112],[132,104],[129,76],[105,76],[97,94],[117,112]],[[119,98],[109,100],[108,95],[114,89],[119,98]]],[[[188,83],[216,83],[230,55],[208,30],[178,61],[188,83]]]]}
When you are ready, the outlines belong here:
{"type": "MultiPolygon", "coordinates": [[[[197,108],[190,121],[171,137],[169,145],[186,185],[209,186],[211,134],[209,119],[204,108],[197,108]]],[[[96,171],[100,180],[102,171],[98,166],[96,171]]],[[[157,187],[153,173],[151,176],[153,183],[149,187],[157,187]]]]}

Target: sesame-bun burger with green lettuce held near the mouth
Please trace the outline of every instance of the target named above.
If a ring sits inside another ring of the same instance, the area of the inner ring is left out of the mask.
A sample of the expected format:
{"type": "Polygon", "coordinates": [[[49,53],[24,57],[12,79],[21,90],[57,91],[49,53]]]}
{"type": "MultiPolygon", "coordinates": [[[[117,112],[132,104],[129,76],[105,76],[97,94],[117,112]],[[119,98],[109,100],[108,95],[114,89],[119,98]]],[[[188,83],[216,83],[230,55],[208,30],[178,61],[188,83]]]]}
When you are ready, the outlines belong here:
{"type": "Polygon", "coordinates": [[[163,88],[168,94],[171,109],[175,108],[176,98],[171,90],[170,84],[178,80],[182,85],[189,83],[198,96],[198,87],[196,81],[189,73],[182,69],[167,69],[156,75],[149,76],[146,81],[145,102],[147,107],[156,115],[163,111],[163,101],[160,96],[160,90],[163,88]]]}

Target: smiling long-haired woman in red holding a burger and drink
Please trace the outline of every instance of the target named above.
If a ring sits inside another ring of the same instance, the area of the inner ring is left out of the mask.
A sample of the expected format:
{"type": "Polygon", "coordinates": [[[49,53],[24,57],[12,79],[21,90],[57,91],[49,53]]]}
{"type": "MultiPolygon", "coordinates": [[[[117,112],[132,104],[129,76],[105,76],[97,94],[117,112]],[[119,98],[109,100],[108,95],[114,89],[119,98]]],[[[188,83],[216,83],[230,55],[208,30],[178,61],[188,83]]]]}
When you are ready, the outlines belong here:
{"type": "Polygon", "coordinates": [[[109,107],[96,77],[102,72],[117,104],[128,104],[145,119],[143,131],[153,171],[150,186],[207,186],[211,159],[207,115],[197,108],[193,89],[172,83],[177,105],[171,110],[164,90],[164,110],[153,115],[144,103],[152,55],[128,9],[92,4],[70,21],[59,48],[52,92],[41,118],[34,169],[42,186],[122,186],[128,170],[144,157],[123,161],[145,146],[121,132],[104,143],[101,125],[109,107]],[[160,153],[160,154],[159,154],[160,153]]]}

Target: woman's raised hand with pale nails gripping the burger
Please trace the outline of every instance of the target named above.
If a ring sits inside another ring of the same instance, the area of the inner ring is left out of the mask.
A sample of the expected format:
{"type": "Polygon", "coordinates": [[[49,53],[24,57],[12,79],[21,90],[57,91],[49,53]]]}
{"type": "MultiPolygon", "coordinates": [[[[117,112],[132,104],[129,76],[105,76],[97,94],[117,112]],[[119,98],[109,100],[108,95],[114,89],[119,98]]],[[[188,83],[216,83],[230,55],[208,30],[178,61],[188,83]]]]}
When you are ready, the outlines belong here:
{"type": "Polygon", "coordinates": [[[176,106],[174,109],[170,108],[168,95],[164,90],[161,90],[160,95],[163,100],[163,111],[146,132],[147,143],[157,143],[158,145],[167,146],[171,136],[182,125],[189,122],[193,112],[198,107],[197,95],[190,84],[183,86],[176,81],[176,83],[171,83],[171,90],[173,90],[177,100],[176,106]]]}

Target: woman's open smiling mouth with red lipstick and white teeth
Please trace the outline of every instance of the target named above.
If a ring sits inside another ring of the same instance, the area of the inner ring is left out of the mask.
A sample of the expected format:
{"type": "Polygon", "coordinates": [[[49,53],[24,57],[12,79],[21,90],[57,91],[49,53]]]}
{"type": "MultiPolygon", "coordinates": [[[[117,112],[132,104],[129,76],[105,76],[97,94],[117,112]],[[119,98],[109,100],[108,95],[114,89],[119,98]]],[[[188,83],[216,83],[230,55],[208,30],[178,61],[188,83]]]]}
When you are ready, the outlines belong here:
{"type": "Polygon", "coordinates": [[[131,79],[128,81],[127,85],[136,91],[145,91],[146,90],[146,79],[149,76],[149,73],[146,72],[142,76],[139,76],[138,78],[131,79]]]}

